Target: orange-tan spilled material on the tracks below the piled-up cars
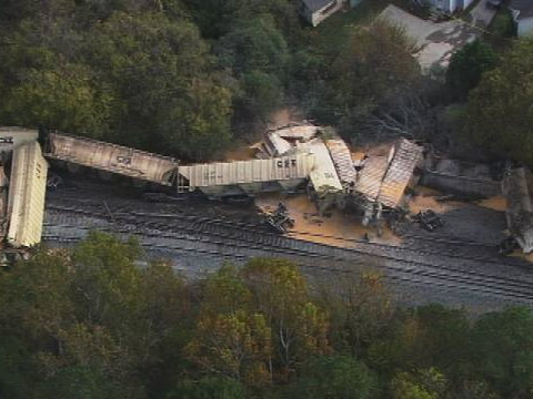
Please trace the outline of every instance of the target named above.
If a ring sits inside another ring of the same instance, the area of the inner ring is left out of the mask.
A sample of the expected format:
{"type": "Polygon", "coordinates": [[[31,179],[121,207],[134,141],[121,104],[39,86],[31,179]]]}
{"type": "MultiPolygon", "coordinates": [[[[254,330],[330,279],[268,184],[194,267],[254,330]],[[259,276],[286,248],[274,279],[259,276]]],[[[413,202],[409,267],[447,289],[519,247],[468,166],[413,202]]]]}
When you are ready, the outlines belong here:
{"type": "Polygon", "coordinates": [[[351,246],[350,239],[363,239],[365,234],[372,242],[400,243],[400,238],[389,228],[378,237],[374,229],[362,226],[355,216],[343,214],[339,209],[328,212],[328,217],[320,216],[314,204],[305,195],[292,197],[268,195],[255,200],[255,204],[263,212],[275,211],[280,202],[283,202],[294,219],[294,228],[289,233],[291,237],[343,247],[351,246]]]}

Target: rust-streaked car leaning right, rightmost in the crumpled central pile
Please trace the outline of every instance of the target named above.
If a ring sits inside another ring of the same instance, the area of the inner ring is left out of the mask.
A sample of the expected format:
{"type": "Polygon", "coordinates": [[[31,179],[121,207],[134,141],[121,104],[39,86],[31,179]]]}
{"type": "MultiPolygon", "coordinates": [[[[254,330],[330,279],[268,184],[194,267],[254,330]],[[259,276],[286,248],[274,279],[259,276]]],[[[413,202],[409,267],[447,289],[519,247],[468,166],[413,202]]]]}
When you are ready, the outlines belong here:
{"type": "Polygon", "coordinates": [[[405,187],[421,158],[422,147],[408,140],[401,140],[398,143],[394,157],[381,184],[378,196],[380,203],[390,207],[396,207],[400,204],[405,187]]]}

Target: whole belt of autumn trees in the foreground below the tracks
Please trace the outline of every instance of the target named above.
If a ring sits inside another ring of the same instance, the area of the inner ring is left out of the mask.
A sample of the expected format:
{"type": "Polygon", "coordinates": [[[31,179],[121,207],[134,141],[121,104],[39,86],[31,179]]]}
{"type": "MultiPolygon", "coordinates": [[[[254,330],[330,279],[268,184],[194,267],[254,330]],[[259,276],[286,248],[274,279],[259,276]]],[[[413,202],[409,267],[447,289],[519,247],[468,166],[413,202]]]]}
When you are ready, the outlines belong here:
{"type": "Polygon", "coordinates": [[[529,398],[529,308],[398,308],[375,274],[311,290],[284,259],[185,283],[91,233],[0,273],[6,398],[529,398]],[[334,296],[333,291],[340,296],[334,296]]]}

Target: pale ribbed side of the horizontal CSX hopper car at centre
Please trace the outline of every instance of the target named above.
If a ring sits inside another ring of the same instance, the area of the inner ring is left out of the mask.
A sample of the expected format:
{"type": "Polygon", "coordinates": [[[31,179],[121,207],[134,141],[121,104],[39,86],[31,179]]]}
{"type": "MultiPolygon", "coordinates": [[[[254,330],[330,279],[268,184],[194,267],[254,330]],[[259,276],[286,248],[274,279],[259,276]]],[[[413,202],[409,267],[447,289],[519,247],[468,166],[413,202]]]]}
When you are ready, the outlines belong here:
{"type": "Polygon", "coordinates": [[[180,166],[179,175],[194,187],[305,178],[314,165],[310,154],[180,166]]]}

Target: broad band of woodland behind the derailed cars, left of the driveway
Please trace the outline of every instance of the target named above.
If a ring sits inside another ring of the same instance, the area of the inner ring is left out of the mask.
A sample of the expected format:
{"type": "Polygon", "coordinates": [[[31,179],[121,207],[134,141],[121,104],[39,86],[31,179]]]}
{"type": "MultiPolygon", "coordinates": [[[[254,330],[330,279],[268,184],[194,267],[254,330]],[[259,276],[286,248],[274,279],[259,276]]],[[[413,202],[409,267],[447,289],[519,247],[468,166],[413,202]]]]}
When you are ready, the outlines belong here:
{"type": "Polygon", "coordinates": [[[0,119],[185,161],[221,155],[293,100],[350,135],[411,79],[411,47],[382,23],[321,41],[299,4],[1,0],[0,119]]]}

